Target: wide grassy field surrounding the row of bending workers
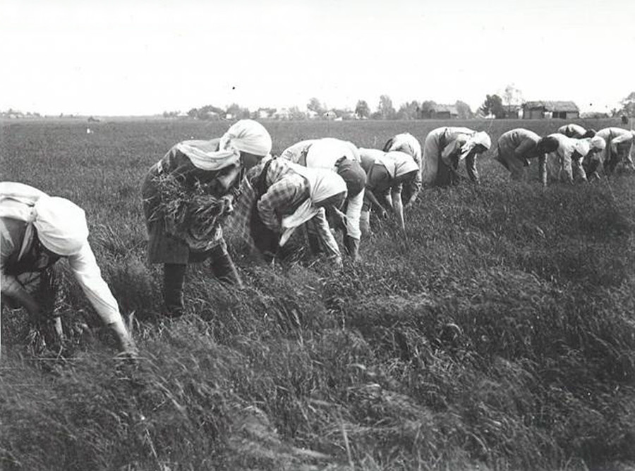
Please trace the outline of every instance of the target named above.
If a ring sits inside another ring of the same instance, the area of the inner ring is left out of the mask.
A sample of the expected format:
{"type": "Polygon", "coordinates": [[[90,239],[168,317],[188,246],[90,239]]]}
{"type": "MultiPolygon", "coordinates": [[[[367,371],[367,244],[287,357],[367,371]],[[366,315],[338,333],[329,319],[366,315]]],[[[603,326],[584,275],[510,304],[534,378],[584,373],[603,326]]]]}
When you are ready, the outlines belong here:
{"type": "MultiPolygon", "coordinates": [[[[562,123],[263,124],[279,153],[312,137],[382,147],[409,131],[423,145],[450,125],[495,142],[562,123]]],[[[56,309],[70,358],[35,355],[25,313],[4,310],[1,470],[635,466],[634,176],[543,189],[509,181],[492,149],[477,164],[481,185],[423,190],[406,239],[394,221],[373,221],[363,261],[341,271],[266,267],[229,234],[246,288],[192,266],[187,314],[169,321],[161,271],[145,264],[140,181],[174,143],[219,137],[229,123],[0,126],[0,180],[85,209],[140,349],[135,365],[114,358],[64,262],[56,309]]]]}

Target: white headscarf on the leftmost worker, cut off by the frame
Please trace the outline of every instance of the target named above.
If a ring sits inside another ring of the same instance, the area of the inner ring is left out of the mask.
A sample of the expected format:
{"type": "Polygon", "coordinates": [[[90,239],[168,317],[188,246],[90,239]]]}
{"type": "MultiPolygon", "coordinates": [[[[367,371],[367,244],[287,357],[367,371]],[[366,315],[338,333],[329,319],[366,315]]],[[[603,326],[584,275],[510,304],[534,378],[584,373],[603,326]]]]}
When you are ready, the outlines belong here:
{"type": "Polygon", "coordinates": [[[0,183],[0,203],[0,216],[28,223],[18,259],[34,229],[44,247],[63,257],[77,254],[87,243],[84,210],[65,198],[51,197],[22,183],[3,182],[0,183]]]}

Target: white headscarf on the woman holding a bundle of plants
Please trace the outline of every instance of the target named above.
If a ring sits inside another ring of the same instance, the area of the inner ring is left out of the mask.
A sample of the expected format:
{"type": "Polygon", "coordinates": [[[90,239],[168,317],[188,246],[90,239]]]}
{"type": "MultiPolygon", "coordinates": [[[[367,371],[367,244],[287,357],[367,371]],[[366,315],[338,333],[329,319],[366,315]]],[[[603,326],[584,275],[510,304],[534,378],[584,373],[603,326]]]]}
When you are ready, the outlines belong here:
{"type": "Polygon", "coordinates": [[[222,135],[216,152],[205,152],[187,142],[181,142],[176,147],[198,169],[212,171],[238,164],[241,151],[265,157],[271,152],[272,141],[265,126],[251,119],[241,119],[222,135]]]}

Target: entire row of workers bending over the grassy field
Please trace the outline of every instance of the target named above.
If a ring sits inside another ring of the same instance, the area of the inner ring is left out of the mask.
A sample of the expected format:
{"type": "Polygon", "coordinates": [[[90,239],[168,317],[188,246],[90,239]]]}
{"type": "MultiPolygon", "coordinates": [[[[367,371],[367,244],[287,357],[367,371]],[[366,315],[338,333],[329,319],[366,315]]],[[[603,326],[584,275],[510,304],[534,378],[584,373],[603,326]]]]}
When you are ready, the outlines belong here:
{"type": "MultiPolygon", "coordinates": [[[[495,159],[516,180],[525,178],[529,161],[537,159],[546,184],[551,159],[560,177],[586,181],[587,175],[598,176],[600,165],[605,173],[620,163],[632,169],[633,141],[633,131],[622,128],[595,133],[570,124],[546,137],[517,128],[501,135],[495,159]]],[[[403,133],[391,137],[382,150],[322,138],[298,142],[271,157],[269,133],[252,120],[238,121],[217,139],[179,142],[150,168],[141,188],[148,262],[164,269],[165,314],[183,314],[190,263],[210,260],[219,281],[242,286],[223,228],[236,231],[270,262],[284,255],[294,233],[296,238],[301,233],[313,253],[341,265],[334,230],[343,232],[344,254],[358,259],[360,240],[370,232],[371,210],[382,217],[392,212],[404,229],[404,207],[413,203],[422,185],[458,183],[460,161],[478,182],[476,157],[490,147],[483,131],[443,127],[428,133],[423,152],[413,135],[403,133]]],[[[121,350],[135,351],[87,241],[83,209],[28,185],[2,182],[0,235],[2,302],[24,307],[33,322],[51,326],[63,338],[52,310],[52,279],[55,262],[66,258],[121,350]]]]}

